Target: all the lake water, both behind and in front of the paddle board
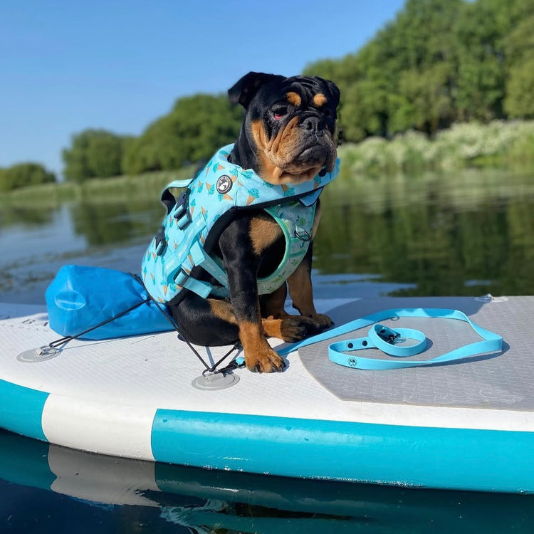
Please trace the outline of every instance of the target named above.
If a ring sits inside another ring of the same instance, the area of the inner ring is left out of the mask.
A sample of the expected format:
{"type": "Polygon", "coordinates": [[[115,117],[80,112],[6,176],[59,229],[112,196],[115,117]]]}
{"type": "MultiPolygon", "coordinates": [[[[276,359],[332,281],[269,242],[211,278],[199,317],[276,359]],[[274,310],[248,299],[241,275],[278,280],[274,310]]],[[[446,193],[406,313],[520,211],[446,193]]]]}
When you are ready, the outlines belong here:
{"type": "MultiPolygon", "coordinates": [[[[340,177],[322,199],[316,298],[534,294],[533,174],[340,177]]],[[[157,192],[4,207],[0,301],[44,303],[65,263],[137,272],[162,214],[157,192]]],[[[0,431],[0,532],[75,530],[530,533],[534,500],[145,464],[0,431]]]]}

